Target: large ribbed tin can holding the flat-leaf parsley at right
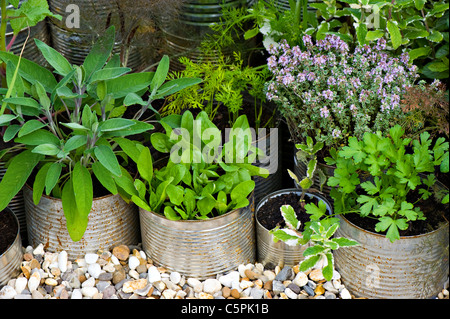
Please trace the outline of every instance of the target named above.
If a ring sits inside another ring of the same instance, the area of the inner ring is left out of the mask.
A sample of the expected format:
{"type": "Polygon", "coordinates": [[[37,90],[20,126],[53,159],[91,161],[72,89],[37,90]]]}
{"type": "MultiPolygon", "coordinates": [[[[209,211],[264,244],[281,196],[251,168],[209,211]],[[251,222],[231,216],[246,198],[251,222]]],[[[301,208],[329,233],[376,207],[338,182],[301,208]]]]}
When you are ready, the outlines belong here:
{"type": "Polygon", "coordinates": [[[449,224],[391,243],[385,235],[364,230],[339,216],[335,237],[360,245],[333,252],[345,287],[356,297],[427,299],[443,288],[449,274],[449,224]]]}

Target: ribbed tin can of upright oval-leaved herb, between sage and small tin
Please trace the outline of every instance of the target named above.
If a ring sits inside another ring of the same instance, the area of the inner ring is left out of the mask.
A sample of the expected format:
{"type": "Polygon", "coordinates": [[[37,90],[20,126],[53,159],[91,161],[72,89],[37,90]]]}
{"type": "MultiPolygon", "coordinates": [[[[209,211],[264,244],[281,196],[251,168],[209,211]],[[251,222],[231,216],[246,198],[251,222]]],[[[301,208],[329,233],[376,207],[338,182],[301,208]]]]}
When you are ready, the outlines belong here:
{"type": "Polygon", "coordinates": [[[254,201],[208,220],[169,220],[139,209],[142,247],[157,265],[205,279],[254,263],[254,201]]]}

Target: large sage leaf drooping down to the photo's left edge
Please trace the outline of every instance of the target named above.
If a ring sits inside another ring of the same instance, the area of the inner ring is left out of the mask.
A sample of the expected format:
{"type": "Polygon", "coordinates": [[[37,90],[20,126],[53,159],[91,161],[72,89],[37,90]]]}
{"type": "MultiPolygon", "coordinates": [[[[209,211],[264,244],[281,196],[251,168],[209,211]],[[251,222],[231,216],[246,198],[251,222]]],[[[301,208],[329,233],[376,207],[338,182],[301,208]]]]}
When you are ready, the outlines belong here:
{"type": "Polygon", "coordinates": [[[14,156],[0,182],[0,211],[9,205],[13,197],[22,189],[42,158],[41,154],[32,153],[31,150],[14,156]]]}

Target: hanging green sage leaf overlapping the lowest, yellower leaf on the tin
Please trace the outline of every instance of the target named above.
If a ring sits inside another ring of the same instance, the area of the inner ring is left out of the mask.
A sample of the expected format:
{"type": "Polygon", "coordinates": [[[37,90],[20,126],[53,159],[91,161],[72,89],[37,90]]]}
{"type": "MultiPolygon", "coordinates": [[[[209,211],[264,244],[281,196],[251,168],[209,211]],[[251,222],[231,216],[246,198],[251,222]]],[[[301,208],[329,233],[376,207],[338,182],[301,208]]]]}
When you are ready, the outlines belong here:
{"type": "Polygon", "coordinates": [[[72,172],[73,193],[77,210],[81,218],[86,218],[92,208],[93,186],[92,178],[88,169],[80,162],[76,163],[72,172]]]}

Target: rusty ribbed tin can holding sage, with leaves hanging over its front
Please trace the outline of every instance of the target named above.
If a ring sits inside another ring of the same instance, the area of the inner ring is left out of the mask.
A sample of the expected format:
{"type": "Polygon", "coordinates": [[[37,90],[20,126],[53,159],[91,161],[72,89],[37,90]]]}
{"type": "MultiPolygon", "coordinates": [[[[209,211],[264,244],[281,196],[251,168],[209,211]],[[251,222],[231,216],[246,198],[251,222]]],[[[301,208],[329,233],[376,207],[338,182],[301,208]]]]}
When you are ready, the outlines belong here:
{"type": "Polygon", "coordinates": [[[27,218],[28,241],[33,247],[44,244],[48,251],[65,250],[70,260],[88,252],[110,250],[117,245],[139,243],[139,215],[134,204],[127,204],[120,195],[94,198],[87,229],[81,240],[69,236],[60,199],[42,195],[33,203],[33,191],[23,188],[27,218]]]}

